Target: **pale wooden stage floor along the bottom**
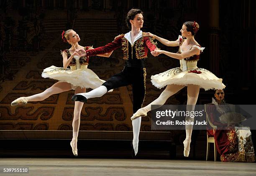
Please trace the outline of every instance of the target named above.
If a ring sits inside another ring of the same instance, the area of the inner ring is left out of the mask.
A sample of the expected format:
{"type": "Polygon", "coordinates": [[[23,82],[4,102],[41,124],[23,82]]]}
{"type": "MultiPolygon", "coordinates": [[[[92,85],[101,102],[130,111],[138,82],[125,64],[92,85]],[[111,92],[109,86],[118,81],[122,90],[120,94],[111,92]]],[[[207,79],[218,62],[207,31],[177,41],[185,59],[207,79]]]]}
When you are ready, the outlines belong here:
{"type": "Polygon", "coordinates": [[[256,175],[256,163],[195,160],[0,158],[0,175],[17,176],[234,176],[256,175]],[[28,167],[29,174],[6,173],[3,168],[28,167]]]}

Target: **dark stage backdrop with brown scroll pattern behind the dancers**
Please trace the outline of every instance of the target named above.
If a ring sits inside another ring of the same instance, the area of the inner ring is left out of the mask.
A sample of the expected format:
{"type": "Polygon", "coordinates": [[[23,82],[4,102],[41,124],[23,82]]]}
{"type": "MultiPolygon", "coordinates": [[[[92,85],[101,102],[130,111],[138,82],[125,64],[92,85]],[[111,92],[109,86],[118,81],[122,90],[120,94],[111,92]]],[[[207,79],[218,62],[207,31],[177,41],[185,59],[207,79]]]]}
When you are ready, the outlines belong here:
{"type": "MultiPolygon", "coordinates": [[[[177,40],[185,21],[195,20],[200,24],[196,40],[206,49],[198,65],[223,78],[228,103],[246,103],[241,102],[243,98],[236,93],[250,95],[255,88],[255,30],[251,30],[255,28],[255,10],[251,9],[255,9],[253,0],[239,3],[218,0],[12,0],[1,1],[0,5],[1,138],[70,138],[74,91],[26,106],[11,107],[10,103],[18,97],[40,93],[56,83],[42,78],[41,72],[51,65],[62,66],[60,51],[70,48],[61,40],[62,30],[74,29],[81,38],[80,45],[97,48],[128,32],[125,17],[133,7],[144,12],[144,32],[168,40],[177,40]]],[[[172,52],[178,50],[161,44],[158,47],[172,52]]],[[[122,50],[118,49],[110,58],[91,57],[88,68],[101,79],[108,80],[123,70],[123,65],[122,50]]],[[[163,91],[151,84],[151,75],[177,66],[178,60],[148,54],[144,105],[163,91]]],[[[201,90],[197,103],[210,103],[211,97],[211,91],[201,90]]],[[[166,104],[186,104],[186,101],[187,92],[182,89],[166,104]]],[[[131,139],[131,116],[132,88],[118,88],[84,104],[79,130],[86,131],[83,138],[131,139]]],[[[184,131],[154,131],[148,135],[146,132],[152,132],[150,116],[149,113],[148,117],[142,118],[144,139],[173,140],[175,136],[183,135],[184,131]]]]}

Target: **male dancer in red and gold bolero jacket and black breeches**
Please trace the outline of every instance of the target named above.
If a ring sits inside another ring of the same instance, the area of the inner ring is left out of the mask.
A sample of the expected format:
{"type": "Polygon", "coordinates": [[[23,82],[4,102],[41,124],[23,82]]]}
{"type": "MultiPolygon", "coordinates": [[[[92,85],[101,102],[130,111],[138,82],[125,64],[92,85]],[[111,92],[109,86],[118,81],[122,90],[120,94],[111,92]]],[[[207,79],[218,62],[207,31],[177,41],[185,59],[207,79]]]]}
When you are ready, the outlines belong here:
{"type": "MultiPolygon", "coordinates": [[[[100,87],[88,92],[78,93],[72,97],[73,101],[86,102],[88,98],[101,97],[111,89],[122,86],[132,85],[133,87],[133,113],[142,107],[146,91],[146,68],[145,59],[147,58],[148,48],[152,51],[156,49],[154,38],[145,36],[141,31],[143,27],[143,12],[139,9],[131,9],[126,17],[126,25],[131,29],[125,35],[115,37],[115,40],[105,46],[92,50],[76,50],[79,56],[92,56],[120,48],[123,50],[125,67],[122,72],[113,75],[100,87]]],[[[152,54],[156,56],[155,54],[152,54]]],[[[138,137],[141,127],[141,117],[132,121],[133,124],[133,150],[136,156],[138,152],[138,137]]]]}

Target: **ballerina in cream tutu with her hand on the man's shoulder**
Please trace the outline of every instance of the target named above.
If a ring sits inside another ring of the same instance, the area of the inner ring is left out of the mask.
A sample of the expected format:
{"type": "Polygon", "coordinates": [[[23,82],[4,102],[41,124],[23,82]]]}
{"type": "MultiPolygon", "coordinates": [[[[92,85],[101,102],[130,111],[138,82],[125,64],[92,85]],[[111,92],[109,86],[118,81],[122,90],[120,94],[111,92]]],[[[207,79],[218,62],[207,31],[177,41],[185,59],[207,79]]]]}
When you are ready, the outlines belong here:
{"type": "MultiPolygon", "coordinates": [[[[213,73],[204,68],[197,68],[200,53],[205,49],[202,48],[194,38],[198,30],[199,25],[195,21],[185,22],[180,30],[182,36],[179,35],[176,41],[169,41],[151,33],[146,33],[148,36],[156,38],[156,40],[159,40],[159,42],[166,46],[179,46],[177,53],[170,53],[164,50],[155,50],[154,53],[156,55],[165,54],[169,57],[179,59],[180,67],[172,68],[163,73],[151,76],[151,82],[157,88],[167,86],[159,98],[134,113],[131,117],[132,121],[138,117],[147,116],[147,112],[152,110],[151,105],[163,105],[170,96],[174,95],[185,86],[187,86],[187,105],[189,105],[187,106],[187,111],[195,110],[200,88],[204,88],[205,91],[209,89],[225,88],[221,78],[216,77],[213,73]]],[[[186,121],[194,121],[194,118],[187,116],[186,121]]],[[[192,128],[192,125],[186,125],[186,139],[183,142],[184,156],[186,157],[189,155],[192,128]]]]}

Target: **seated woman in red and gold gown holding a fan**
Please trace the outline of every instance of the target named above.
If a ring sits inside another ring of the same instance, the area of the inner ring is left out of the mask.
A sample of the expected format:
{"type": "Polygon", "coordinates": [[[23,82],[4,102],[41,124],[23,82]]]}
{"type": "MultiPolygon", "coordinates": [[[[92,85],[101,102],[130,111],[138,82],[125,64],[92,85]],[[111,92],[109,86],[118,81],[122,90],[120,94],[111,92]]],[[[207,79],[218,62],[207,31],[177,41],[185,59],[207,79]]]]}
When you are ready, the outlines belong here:
{"type": "Polygon", "coordinates": [[[223,162],[253,162],[255,161],[251,131],[245,127],[243,129],[226,123],[227,113],[230,112],[230,104],[224,101],[223,90],[215,90],[212,104],[207,106],[209,120],[217,129],[207,130],[209,136],[214,136],[217,150],[220,153],[220,161],[223,162]],[[225,106],[226,105],[226,106],[225,106]]]}

